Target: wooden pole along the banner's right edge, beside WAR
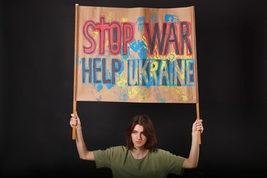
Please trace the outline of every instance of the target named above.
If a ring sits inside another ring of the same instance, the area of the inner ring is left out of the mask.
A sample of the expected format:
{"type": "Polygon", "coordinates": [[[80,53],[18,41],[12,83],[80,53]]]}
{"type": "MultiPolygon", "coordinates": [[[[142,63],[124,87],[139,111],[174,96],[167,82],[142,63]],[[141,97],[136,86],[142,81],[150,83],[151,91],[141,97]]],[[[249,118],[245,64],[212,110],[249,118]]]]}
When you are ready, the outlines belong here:
{"type": "MultiPolygon", "coordinates": [[[[197,78],[197,62],[196,62],[196,23],[195,23],[195,19],[194,19],[194,6],[193,6],[193,10],[192,10],[192,23],[194,25],[194,60],[195,60],[195,77],[196,77],[196,120],[200,119],[200,114],[199,114],[199,82],[198,82],[198,78],[197,78]]],[[[201,132],[199,131],[198,133],[198,140],[199,140],[199,144],[201,144],[201,132]]]]}

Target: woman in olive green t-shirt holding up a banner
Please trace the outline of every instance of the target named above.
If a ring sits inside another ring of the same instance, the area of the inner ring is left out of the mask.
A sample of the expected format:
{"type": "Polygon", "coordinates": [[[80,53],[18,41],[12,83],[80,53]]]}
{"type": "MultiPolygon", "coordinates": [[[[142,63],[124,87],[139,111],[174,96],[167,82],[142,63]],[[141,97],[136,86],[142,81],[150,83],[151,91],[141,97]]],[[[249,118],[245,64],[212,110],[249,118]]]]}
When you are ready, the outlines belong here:
{"type": "Polygon", "coordinates": [[[145,114],[131,120],[127,129],[126,147],[88,151],[81,132],[79,116],[71,114],[71,127],[76,127],[76,144],[82,160],[95,161],[97,168],[107,167],[113,177],[167,177],[181,175],[184,168],[196,168],[199,162],[198,132],[203,132],[202,120],[192,125],[192,145],[188,158],[157,149],[157,139],[151,119],[145,114]]]}

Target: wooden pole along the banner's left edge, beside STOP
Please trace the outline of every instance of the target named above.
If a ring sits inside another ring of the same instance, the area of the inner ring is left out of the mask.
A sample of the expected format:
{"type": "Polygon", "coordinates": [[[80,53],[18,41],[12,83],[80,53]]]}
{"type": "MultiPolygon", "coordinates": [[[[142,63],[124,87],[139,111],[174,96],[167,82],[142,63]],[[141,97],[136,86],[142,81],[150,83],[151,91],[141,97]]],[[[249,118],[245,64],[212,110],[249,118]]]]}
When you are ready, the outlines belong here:
{"type": "MultiPolygon", "coordinates": [[[[79,4],[75,4],[75,44],[74,44],[74,82],[73,82],[73,114],[77,114],[77,100],[76,100],[76,82],[77,82],[77,27],[78,27],[78,8],[79,4]]],[[[76,139],[76,127],[73,127],[73,140],[76,139]]]]}

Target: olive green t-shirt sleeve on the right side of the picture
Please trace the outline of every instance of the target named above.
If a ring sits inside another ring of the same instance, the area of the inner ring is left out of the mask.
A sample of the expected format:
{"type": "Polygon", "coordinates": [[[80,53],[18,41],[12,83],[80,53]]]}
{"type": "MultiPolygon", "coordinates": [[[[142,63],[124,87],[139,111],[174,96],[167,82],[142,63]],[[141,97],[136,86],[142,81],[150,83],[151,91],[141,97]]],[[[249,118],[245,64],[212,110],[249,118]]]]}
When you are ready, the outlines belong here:
{"type": "Polygon", "coordinates": [[[181,157],[178,155],[173,155],[172,153],[168,151],[164,151],[164,157],[166,160],[166,166],[168,169],[168,173],[173,173],[176,175],[182,175],[183,174],[183,162],[186,160],[185,157],[181,157]]]}

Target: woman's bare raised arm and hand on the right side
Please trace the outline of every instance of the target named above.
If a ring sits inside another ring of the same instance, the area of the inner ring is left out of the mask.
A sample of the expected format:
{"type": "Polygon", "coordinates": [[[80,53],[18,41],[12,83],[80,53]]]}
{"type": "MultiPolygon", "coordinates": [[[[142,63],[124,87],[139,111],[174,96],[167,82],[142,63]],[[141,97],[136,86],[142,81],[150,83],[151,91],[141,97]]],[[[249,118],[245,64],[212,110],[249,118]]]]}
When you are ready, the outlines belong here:
{"type": "Polygon", "coordinates": [[[199,163],[198,132],[203,132],[203,120],[196,120],[192,126],[192,144],[189,157],[183,162],[183,168],[196,168],[199,163]]]}

